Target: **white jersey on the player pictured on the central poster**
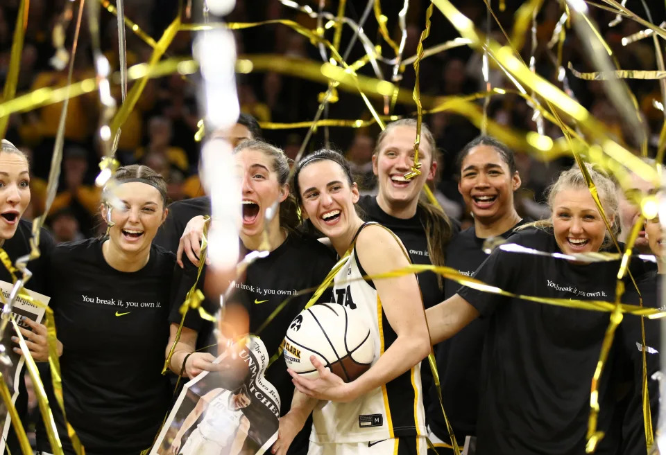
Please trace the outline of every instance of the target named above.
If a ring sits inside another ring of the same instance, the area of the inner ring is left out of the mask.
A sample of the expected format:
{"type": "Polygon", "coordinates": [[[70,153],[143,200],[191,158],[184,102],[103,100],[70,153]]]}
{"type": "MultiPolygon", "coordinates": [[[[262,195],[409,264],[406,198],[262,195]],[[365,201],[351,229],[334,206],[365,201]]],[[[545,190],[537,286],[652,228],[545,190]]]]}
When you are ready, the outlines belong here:
{"type": "Polygon", "coordinates": [[[242,417],[243,412],[234,409],[231,392],[223,391],[208,404],[198,429],[207,440],[222,446],[231,445],[242,417]]]}

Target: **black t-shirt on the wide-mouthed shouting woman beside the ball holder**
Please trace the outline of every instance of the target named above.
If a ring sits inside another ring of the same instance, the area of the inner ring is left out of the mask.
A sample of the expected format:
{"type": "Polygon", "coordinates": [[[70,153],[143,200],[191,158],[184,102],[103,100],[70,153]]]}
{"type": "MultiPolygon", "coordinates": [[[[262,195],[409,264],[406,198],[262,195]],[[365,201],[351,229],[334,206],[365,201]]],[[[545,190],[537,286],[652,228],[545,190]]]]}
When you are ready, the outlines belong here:
{"type": "MultiPolygon", "coordinates": [[[[320,285],[328,272],[335,264],[335,253],[325,247],[321,242],[313,239],[300,238],[290,233],[287,240],[271,251],[266,258],[255,260],[246,271],[245,279],[237,283],[236,292],[232,293],[226,301],[227,305],[239,304],[248,310],[250,316],[250,333],[256,334],[261,325],[271,316],[275,308],[295,291],[308,289],[320,285]]],[[[196,278],[196,267],[189,261],[185,261],[185,271],[180,279],[179,291],[176,301],[182,302],[185,293],[194,284],[196,278]]],[[[205,283],[205,267],[199,278],[198,288],[203,289],[205,283]]],[[[278,352],[278,348],[287,334],[289,324],[293,318],[300,313],[313,292],[296,296],[275,316],[275,319],[266,325],[259,333],[259,338],[266,346],[269,356],[278,352]]],[[[331,300],[330,289],[325,291],[318,301],[328,302],[331,300]]],[[[218,307],[211,301],[205,302],[205,309],[214,314],[218,307]]],[[[180,323],[181,314],[178,307],[174,305],[171,312],[171,322],[180,323]]],[[[199,334],[210,333],[212,324],[204,321],[198,312],[190,311],[185,316],[185,327],[197,330],[199,334]]],[[[214,340],[207,341],[214,343],[214,340]]],[[[280,355],[270,368],[266,370],[266,380],[271,382],[280,395],[280,416],[284,416],[291,408],[293,396],[293,383],[291,376],[287,373],[287,365],[284,357],[280,355]]],[[[310,425],[306,424],[303,430],[296,436],[289,453],[307,452],[310,425]]]]}

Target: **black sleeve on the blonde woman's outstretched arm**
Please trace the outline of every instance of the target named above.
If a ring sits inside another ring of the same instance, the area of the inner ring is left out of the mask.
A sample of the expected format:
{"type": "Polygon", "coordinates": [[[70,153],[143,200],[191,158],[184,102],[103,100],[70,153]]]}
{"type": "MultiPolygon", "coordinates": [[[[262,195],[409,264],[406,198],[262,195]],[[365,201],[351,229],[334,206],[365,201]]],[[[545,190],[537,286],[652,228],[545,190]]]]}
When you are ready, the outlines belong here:
{"type": "MultiPolygon", "coordinates": [[[[520,264],[518,262],[520,258],[515,256],[519,255],[514,254],[511,257],[511,253],[496,249],[474,272],[473,278],[500,289],[513,289],[513,276],[516,276],[515,270],[520,264]]],[[[481,317],[490,316],[498,305],[509,300],[506,296],[490,294],[467,286],[461,287],[458,294],[475,307],[481,313],[481,317]]]]}

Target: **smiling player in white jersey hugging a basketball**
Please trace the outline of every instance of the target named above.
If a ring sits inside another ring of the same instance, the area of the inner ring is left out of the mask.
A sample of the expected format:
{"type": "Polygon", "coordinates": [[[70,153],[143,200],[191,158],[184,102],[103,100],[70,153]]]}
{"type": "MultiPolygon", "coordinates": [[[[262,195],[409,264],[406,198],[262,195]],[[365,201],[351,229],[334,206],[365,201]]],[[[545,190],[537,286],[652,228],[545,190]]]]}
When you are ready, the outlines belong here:
{"type": "MultiPolygon", "coordinates": [[[[298,391],[330,401],[313,412],[308,453],[425,454],[419,363],[429,353],[429,338],[422,300],[414,298],[420,296],[416,276],[348,282],[405,267],[407,253],[391,231],[357,215],[359,191],[340,154],[319,150],[302,159],[294,190],[304,217],[330,239],[339,256],[350,249],[334,278],[334,295],[347,305],[350,317],[370,324],[375,338],[373,366],[352,382],[343,382],[316,360],[315,380],[290,371],[298,391]]],[[[315,404],[297,394],[291,424],[302,425],[315,404]]]]}

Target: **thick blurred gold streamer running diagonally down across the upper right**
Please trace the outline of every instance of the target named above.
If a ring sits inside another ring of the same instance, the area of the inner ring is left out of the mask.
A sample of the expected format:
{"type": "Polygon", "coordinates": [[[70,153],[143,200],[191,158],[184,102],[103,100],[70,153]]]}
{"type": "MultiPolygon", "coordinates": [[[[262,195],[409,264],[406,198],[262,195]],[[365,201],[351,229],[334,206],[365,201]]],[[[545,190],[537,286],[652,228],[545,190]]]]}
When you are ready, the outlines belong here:
{"type": "MultiPolygon", "coordinates": [[[[481,40],[474,25],[464,15],[459,12],[448,0],[432,0],[444,15],[451,21],[459,33],[472,41],[472,46],[481,48],[481,40]]],[[[608,0],[606,0],[608,1],[608,0]]],[[[589,134],[595,141],[599,141],[603,146],[604,154],[643,175],[648,181],[656,181],[656,172],[647,163],[644,163],[639,157],[626,150],[622,145],[610,139],[606,127],[595,118],[590,112],[581,106],[578,102],[572,100],[560,89],[550,84],[539,75],[535,75],[515,56],[511,49],[506,46],[499,46],[493,40],[488,44],[490,52],[495,55],[499,62],[502,62],[518,80],[534,89],[536,93],[545,100],[552,103],[553,106],[560,109],[567,117],[572,118],[579,124],[583,132],[589,134]]]]}

